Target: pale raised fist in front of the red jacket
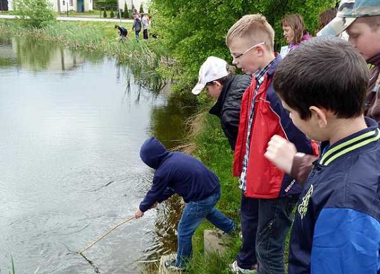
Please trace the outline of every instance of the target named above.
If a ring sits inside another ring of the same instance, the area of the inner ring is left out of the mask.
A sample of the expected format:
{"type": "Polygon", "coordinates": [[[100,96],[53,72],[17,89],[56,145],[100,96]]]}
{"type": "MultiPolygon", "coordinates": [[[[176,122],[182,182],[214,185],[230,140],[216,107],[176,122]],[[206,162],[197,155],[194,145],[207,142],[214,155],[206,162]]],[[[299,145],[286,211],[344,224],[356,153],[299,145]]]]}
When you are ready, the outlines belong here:
{"type": "Polygon", "coordinates": [[[295,145],[281,136],[275,135],[268,142],[267,152],[264,153],[264,156],[278,169],[290,174],[295,153],[297,153],[295,145]]]}

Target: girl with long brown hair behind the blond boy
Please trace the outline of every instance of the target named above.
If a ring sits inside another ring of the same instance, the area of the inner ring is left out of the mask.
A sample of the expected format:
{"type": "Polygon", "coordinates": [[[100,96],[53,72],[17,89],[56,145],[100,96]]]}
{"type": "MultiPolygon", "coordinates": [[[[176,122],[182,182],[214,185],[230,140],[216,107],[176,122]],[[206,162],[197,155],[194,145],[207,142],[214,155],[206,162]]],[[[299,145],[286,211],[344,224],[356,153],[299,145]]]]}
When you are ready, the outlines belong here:
{"type": "Polygon", "coordinates": [[[310,39],[312,36],[306,30],[303,18],[299,14],[286,15],[281,21],[282,29],[284,30],[284,38],[288,43],[288,47],[282,47],[282,58],[288,54],[289,51],[296,49],[302,41],[310,39]]]}

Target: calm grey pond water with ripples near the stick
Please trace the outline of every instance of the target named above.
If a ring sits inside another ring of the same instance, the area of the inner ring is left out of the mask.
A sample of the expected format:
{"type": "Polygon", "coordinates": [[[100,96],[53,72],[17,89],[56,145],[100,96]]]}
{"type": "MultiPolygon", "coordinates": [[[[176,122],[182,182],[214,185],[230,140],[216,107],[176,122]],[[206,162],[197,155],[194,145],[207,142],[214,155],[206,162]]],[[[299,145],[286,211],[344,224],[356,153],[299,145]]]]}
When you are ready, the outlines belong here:
{"type": "Polygon", "coordinates": [[[192,109],[167,93],[113,58],[0,39],[2,273],[11,257],[16,273],[150,273],[176,250],[173,199],[85,251],[94,266],[76,253],[132,216],[150,187],[142,142],[179,145],[192,109]]]}

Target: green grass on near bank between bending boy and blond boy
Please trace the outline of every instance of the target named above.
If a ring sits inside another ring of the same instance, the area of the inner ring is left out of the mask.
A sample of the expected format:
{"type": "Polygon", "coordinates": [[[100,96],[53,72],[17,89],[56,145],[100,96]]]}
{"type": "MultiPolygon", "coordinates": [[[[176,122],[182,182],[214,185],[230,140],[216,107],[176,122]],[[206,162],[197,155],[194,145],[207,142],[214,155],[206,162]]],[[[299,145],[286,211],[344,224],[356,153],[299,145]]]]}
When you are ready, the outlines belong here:
{"type": "MultiPolygon", "coordinates": [[[[226,216],[240,223],[240,197],[238,179],[232,177],[233,154],[226,136],[221,131],[219,119],[208,114],[210,106],[203,102],[204,110],[193,117],[190,125],[188,143],[182,149],[195,155],[213,170],[221,182],[221,199],[217,208],[226,216]]],[[[203,221],[193,236],[193,260],[187,271],[192,274],[230,273],[228,265],[232,263],[239,252],[241,240],[239,236],[232,238],[232,243],[223,256],[215,253],[204,253],[204,229],[215,229],[208,221],[203,221]]]]}

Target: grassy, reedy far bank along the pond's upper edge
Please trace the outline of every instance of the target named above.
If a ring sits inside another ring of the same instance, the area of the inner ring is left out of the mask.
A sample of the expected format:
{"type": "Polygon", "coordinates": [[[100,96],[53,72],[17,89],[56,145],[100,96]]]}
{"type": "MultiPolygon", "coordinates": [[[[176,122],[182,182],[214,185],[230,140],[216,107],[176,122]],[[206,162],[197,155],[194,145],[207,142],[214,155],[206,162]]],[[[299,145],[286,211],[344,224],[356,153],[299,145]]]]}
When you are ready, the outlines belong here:
{"type": "Polygon", "coordinates": [[[57,21],[36,29],[25,27],[22,21],[1,20],[0,35],[35,38],[42,42],[55,41],[65,47],[112,55],[118,62],[130,65],[135,79],[143,86],[158,91],[163,86],[161,71],[165,71],[163,67],[171,62],[161,41],[137,41],[133,38],[131,23],[123,23],[131,39],[118,42],[114,25],[109,22],[57,21]]]}

